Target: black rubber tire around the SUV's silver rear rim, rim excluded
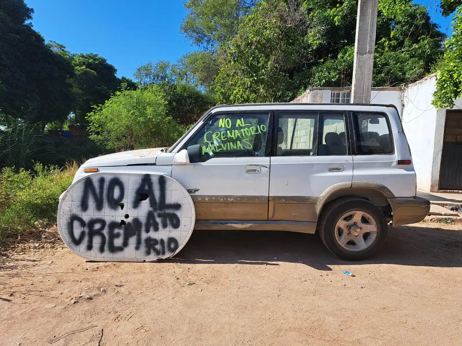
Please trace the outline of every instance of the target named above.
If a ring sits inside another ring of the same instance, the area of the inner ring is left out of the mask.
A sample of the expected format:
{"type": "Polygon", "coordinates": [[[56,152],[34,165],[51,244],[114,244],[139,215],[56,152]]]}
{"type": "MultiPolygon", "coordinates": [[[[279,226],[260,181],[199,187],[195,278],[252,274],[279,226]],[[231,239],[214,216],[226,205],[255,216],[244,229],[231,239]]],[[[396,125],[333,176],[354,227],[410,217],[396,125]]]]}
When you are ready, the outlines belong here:
{"type": "Polygon", "coordinates": [[[368,200],[360,197],[343,197],[329,203],[319,220],[319,235],[322,242],[335,256],[349,261],[358,261],[371,257],[379,251],[387,238],[387,221],[382,211],[368,200]],[[340,217],[354,210],[363,211],[372,216],[377,225],[377,236],[364,250],[349,251],[335,239],[335,225],[340,217]]]}

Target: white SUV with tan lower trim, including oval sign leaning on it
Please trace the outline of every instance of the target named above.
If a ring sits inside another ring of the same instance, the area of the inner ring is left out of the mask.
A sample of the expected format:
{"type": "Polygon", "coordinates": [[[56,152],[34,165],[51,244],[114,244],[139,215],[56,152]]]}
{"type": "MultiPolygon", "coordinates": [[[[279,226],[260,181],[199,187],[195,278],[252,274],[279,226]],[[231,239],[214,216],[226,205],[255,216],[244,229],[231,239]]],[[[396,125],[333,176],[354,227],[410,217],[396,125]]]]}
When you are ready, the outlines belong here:
{"type": "Polygon", "coordinates": [[[430,208],[415,196],[411,153],[392,105],[216,106],[168,150],[88,160],[66,193],[58,225],[66,244],[86,258],[117,261],[173,256],[193,228],[318,230],[335,255],[363,259],[382,247],[388,223],[419,222],[430,208]],[[157,199],[140,211],[146,196],[157,199]],[[90,212],[82,210],[88,201],[90,212]],[[98,205],[102,221],[94,219],[98,205]]]}

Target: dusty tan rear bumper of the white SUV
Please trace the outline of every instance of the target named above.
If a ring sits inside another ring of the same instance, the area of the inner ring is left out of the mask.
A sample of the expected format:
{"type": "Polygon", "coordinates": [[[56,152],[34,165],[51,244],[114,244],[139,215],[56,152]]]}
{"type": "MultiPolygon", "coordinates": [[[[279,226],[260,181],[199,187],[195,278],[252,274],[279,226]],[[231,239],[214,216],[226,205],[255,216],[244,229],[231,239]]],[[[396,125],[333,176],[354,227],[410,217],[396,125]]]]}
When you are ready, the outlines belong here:
{"type": "Polygon", "coordinates": [[[393,226],[422,221],[430,211],[430,201],[422,197],[388,198],[393,211],[393,226]]]}

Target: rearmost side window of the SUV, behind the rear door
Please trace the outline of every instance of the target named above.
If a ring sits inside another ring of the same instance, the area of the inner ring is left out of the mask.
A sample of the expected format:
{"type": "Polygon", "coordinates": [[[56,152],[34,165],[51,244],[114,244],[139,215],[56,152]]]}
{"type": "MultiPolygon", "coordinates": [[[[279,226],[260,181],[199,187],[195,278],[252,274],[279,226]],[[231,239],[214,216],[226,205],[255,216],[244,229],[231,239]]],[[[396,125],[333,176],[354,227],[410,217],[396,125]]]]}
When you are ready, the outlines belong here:
{"type": "Polygon", "coordinates": [[[393,154],[393,142],[386,114],[354,112],[355,151],[359,155],[393,154]]]}

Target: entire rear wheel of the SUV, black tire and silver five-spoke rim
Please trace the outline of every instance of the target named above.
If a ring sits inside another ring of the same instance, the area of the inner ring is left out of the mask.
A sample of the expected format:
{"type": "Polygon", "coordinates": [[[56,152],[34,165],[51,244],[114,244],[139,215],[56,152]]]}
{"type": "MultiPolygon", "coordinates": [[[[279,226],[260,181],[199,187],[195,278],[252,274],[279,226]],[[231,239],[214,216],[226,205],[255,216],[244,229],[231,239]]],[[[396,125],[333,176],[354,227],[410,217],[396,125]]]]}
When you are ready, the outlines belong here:
{"type": "Polygon", "coordinates": [[[344,197],[326,207],[321,215],[319,234],[334,255],[361,260],[382,248],[387,223],[382,211],[368,200],[344,197]]]}

